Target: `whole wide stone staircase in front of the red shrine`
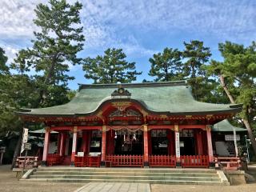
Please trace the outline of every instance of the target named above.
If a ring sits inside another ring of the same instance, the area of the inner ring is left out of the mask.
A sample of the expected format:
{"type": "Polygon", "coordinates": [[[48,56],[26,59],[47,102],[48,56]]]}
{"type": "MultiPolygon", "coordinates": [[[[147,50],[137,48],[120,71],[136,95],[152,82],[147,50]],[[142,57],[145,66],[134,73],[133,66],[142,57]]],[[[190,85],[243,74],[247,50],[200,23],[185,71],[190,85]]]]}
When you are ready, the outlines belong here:
{"type": "Polygon", "coordinates": [[[230,185],[221,170],[170,168],[39,167],[26,181],[230,185]]]}

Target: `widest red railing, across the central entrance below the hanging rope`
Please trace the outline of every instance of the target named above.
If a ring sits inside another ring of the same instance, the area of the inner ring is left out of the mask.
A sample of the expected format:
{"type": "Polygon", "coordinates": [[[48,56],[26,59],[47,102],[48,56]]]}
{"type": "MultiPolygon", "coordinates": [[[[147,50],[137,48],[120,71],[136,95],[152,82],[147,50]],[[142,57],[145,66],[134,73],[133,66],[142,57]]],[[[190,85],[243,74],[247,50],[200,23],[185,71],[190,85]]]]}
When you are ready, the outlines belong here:
{"type": "Polygon", "coordinates": [[[111,166],[143,166],[143,155],[106,155],[111,166]]]}

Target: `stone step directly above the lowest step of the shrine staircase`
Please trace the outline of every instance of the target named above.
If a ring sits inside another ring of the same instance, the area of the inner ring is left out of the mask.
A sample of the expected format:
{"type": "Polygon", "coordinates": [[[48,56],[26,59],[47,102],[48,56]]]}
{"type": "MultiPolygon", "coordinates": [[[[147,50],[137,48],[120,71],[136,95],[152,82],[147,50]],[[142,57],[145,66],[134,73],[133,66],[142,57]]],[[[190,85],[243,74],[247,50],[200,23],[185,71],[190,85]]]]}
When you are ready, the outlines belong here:
{"type": "Polygon", "coordinates": [[[70,178],[70,179],[125,179],[125,180],[183,180],[183,181],[210,181],[221,182],[220,178],[204,178],[204,177],[162,177],[162,176],[123,176],[123,175],[31,175],[30,178],[70,178]]]}

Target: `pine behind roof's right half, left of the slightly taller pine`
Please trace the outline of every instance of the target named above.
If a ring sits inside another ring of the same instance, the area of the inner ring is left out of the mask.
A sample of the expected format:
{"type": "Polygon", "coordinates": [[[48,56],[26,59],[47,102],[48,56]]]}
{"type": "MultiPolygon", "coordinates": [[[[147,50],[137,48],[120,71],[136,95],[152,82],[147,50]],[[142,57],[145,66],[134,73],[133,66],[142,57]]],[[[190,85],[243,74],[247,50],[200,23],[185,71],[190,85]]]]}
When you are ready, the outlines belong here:
{"type": "Polygon", "coordinates": [[[162,53],[154,54],[149,61],[151,63],[149,75],[156,77],[155,82],[169,82],[185,77],[182,71],[182,52],[177,49],[166,47],[162,53]]]}

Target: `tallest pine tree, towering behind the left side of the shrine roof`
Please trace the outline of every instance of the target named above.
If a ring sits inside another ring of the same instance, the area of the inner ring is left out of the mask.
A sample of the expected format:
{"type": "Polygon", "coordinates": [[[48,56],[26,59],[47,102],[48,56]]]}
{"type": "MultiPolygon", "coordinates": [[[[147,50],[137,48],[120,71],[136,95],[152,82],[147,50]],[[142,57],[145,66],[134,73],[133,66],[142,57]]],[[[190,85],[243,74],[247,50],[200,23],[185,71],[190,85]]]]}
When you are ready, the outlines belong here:
{"type": "Polygon", "coordinates": [[[77,53],[82,50],[84,36],[79,18],[82,4],[70,5],[66,0],[50,0],[48,4],[38,4],[34,10],[34,23],[40,29],[34,32],[35,39],[30,49],[20,50],[11,67],[24,74],[34,69],[42,75],[34,76],[39,92],[38,106],[53,106],[69,101],[66,97],[67,83],[73,80],[67,72],[70,65],[77,65],[82,58],[77,53]],[[63,98],[64,97],[64,98],[63,98]]]}

